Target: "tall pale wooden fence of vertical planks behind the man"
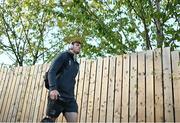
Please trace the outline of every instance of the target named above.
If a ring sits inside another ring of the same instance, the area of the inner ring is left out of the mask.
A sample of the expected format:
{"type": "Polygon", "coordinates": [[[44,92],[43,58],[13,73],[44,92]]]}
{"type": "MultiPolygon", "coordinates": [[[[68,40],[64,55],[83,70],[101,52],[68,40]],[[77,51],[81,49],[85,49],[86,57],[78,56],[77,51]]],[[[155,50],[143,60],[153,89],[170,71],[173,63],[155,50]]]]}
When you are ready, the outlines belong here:
{"type": "MultiPolygon", "coordinates": [[[[40,121],[49,64],[0,68],[0,122],[40,121]]],[[[80,60],[80,122],[180,122],[180,55],[169,48],[80,60]]],[[[58,121],[65,121],[62,115],[58,121]]]]}

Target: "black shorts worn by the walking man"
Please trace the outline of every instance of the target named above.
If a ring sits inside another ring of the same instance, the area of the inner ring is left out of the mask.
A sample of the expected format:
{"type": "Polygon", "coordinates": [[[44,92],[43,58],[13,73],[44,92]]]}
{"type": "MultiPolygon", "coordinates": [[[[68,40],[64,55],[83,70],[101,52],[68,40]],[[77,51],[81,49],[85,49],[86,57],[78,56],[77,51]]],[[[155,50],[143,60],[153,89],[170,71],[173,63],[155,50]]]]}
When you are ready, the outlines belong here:
{"type": "Polygon", "coordinates": [[[52,100],[50,97],[48,97],[48,104],[47,104],[47,110],[46,115],[57,118],[60,113],[66,113],[66,112],[78,112],[78,105],[76,103],[76,100],[70,100],[70,101],[62,101],[62,100],[52,100]]]}

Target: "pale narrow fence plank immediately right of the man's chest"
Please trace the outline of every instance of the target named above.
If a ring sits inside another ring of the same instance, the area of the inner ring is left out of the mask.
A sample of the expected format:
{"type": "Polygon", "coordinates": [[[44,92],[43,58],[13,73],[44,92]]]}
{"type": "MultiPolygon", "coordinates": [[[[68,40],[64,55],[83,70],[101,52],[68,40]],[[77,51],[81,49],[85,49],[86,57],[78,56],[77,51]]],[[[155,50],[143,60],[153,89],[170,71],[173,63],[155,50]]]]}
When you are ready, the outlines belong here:
{"type": "Polygon", "coordinates": [[[81,59],[78,92],[77,92],[78,120],[79,121],[81,119],[81,103],[82,103],[83,88],[84,88],[85,67],[86,67],[86,61],[85,59],[81,59]]]}

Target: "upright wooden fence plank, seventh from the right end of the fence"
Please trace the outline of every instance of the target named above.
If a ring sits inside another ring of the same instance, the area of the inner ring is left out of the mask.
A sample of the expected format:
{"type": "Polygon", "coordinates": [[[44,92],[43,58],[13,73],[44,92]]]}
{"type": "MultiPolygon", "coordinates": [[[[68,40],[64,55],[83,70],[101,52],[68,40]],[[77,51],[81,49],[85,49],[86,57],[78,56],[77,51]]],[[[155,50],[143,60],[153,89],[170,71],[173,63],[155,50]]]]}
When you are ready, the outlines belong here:
{"type": "Polygon", "coordinates": [[[129,115],[129,67],[130,56],[123,55],[123,87],[122,87],[122,113],[121,122],[128,122],[129,115]]]}

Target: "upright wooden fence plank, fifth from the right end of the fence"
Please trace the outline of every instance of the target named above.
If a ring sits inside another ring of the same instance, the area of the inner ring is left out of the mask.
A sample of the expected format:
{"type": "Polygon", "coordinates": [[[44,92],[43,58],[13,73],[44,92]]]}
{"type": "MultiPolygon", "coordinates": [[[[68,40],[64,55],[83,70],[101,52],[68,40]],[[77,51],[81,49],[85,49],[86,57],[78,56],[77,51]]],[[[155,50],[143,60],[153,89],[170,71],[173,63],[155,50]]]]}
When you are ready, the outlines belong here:
{"type": "Polygon", "coordinates": [[[138,53],[138,121],[145,122],[145,55],[138,53]]]}

